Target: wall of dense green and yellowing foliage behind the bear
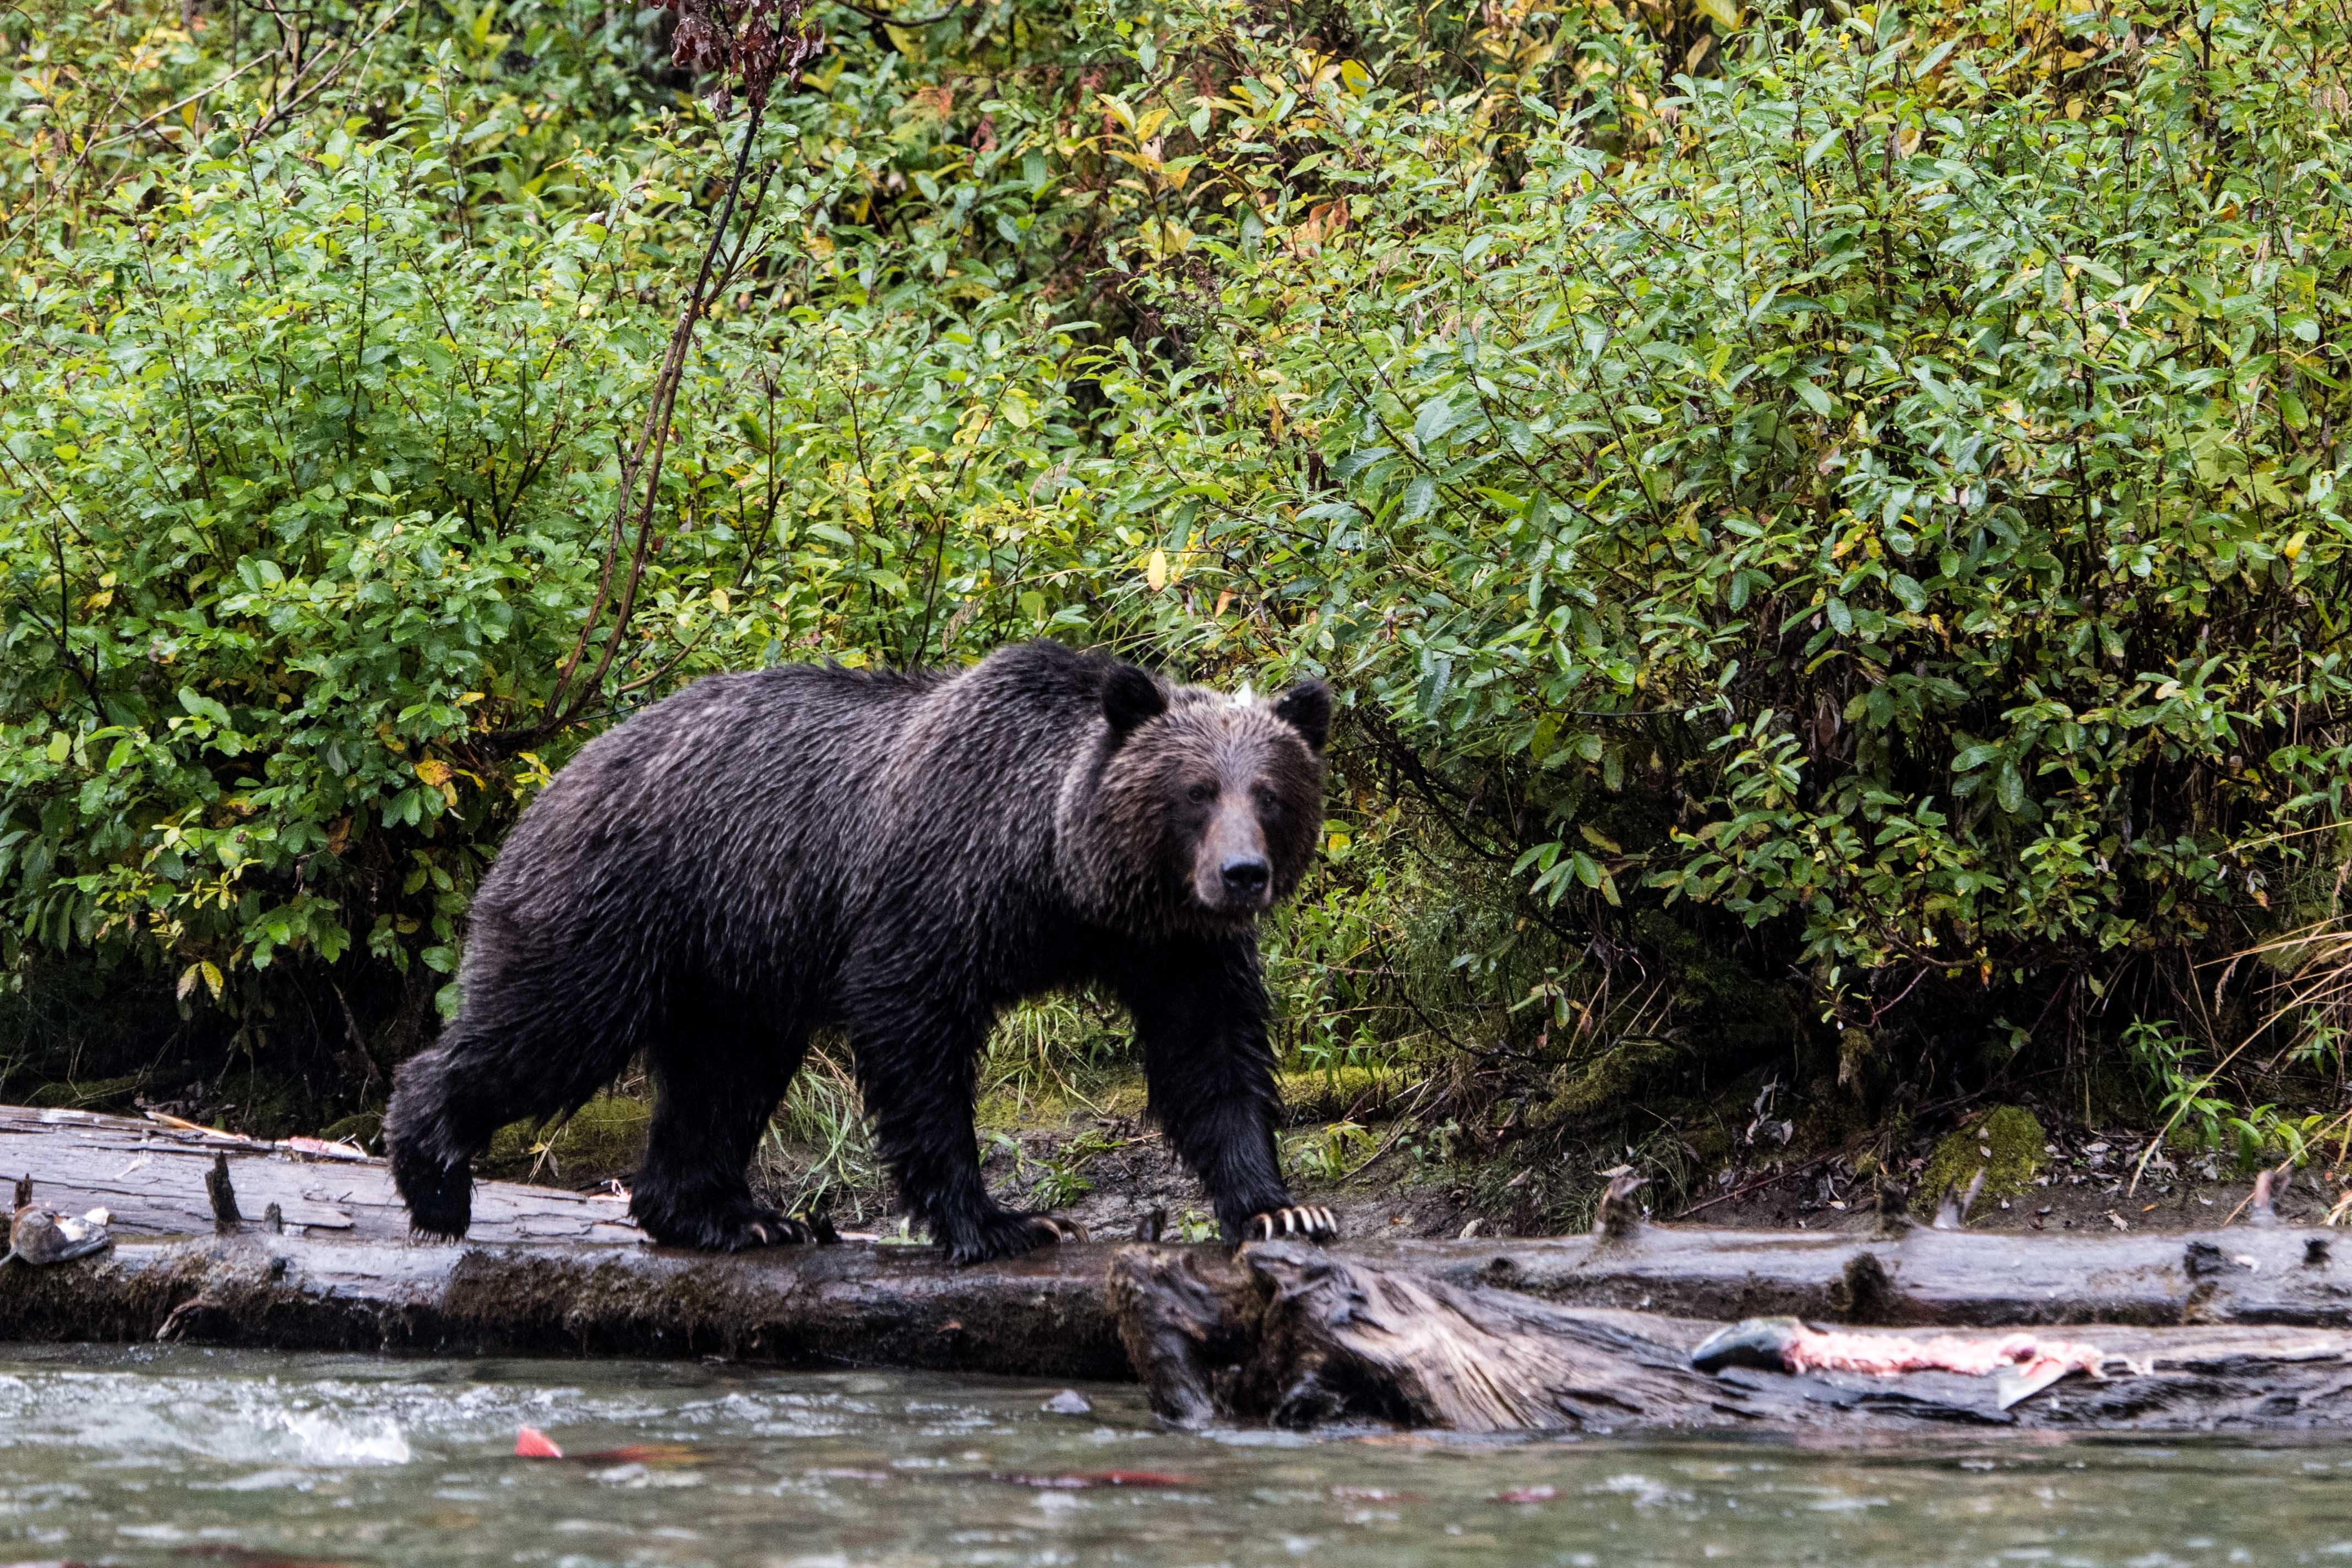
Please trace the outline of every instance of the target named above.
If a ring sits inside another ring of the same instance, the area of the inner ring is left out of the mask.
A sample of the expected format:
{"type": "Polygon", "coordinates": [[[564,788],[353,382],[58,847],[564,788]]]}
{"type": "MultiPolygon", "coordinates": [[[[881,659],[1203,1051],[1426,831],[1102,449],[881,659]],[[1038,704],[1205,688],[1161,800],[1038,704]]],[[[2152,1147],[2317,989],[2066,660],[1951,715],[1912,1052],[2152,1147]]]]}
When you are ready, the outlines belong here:
{"type": "Polygon", "coordinates": [[[666,9],[0,16],[0,1091],[365,1117],[600,724],[1054,635],[1345,691],[1414,1147],[2340,1126],[2336,7],[809,21],[746,148],[666,9]]]}

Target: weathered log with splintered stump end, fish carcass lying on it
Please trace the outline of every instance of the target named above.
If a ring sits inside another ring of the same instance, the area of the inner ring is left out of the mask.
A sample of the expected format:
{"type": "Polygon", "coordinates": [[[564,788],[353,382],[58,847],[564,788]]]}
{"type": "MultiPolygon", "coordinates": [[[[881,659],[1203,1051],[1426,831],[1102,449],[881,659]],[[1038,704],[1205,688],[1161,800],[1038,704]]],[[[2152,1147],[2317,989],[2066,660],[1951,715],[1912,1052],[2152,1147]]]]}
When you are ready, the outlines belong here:
{"type": "Polygon", "coordinates": [[[2140,1371],[2002,1408],[1999,1380],[1962,1373],[1698,1373],[1689,1352],[1715,1324],[1559,1307],[1294,1241],[1232,1260],[1129,1246],[1110,1265],[1110,1300],[1152,1406],[1183,1425],[2352,1427],[2352,1333],[2331,1328],[2070,1331],[2140,1371]]]}

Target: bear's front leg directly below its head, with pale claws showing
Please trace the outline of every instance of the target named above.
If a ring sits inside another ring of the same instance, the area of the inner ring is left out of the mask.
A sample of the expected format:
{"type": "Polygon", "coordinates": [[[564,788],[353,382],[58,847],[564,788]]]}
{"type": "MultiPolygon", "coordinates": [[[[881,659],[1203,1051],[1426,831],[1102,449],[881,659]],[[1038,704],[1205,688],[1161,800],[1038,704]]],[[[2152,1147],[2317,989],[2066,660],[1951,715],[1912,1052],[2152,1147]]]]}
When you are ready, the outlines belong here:
{"type": "Polygon", "coordinates": [[[1143,1041],[1150,1114],[1209,1192],[1228,1241],[1336,1234],[1329,1208],[1291,1206],[1275,1157],[1275,1051],[1247,936],[1127,954],[1112,976],[1143,1041]]]}

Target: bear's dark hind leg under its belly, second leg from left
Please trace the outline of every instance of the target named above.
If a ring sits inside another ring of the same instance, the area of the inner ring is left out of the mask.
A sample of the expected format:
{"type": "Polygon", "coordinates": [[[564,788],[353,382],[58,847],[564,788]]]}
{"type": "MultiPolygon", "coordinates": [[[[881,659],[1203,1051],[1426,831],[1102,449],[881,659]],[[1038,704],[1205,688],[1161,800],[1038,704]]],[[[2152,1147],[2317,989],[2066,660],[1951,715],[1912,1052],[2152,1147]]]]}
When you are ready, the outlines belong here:
{"type": "Polygon", "coordinates": [[[654,1241],[706,1253],[816,1241],[807,1220],[750,1194],[750,1157],[793,1084],[804,1034],[731,1030],[699,1018],[649,1051],[654,1126],[628,1211],[654,1241]],[[753,1060],[746,1060],[750,1056],[753,1060]]]}

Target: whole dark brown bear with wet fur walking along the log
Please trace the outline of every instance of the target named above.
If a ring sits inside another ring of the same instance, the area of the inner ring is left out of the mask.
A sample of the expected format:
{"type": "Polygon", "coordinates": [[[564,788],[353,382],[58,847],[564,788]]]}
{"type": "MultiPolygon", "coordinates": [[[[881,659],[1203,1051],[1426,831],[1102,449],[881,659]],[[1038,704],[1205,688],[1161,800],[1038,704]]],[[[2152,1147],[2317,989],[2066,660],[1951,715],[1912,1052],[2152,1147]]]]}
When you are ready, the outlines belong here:
{"type": "Polygon", "coordinates": [[[807,1239],[748,1164],[811,1030],[849,1034],[901,1199],[953,1258],[1068,1234],[981,1182],[997,1016],[1101,983],[1228,1237],[1282,1211],[1256,919],[1322,830],[1331,696],[1178,686],[1054,642],[962,672],[715,675],[588,743],[473,900],[463,1009],[386,1119],[416,1229],[461,1237],[496,1128],[644,1053],[630,1211],[663,1244],[807,1239]]]}

